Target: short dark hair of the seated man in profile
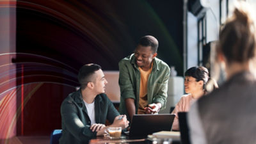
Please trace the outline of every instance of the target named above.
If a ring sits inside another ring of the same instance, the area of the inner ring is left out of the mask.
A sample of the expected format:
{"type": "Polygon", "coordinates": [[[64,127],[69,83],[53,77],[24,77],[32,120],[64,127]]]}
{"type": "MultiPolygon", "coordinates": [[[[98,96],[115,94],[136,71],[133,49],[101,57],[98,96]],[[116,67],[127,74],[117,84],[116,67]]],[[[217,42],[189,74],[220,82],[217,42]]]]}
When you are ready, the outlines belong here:
{"type": "Polygon", "coordinates": [[[92,75],[99,69],[101,69],[100,65],[97,65],[95,63],[86,64],[80,68],[77,79],[80,83],[82,90],[86,88],[89,82],[93,81],[92,75]]]}

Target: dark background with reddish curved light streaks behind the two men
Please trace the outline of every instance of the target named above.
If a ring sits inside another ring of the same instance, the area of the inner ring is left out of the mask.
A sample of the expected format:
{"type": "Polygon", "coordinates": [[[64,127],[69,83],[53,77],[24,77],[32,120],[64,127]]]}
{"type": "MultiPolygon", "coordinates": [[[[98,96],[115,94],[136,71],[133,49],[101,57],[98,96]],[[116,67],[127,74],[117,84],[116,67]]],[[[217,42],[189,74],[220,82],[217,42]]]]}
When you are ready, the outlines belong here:
{"type": "MultiPolygon", "coordinates": [[[[60,105],[78,86],[79,68],[97,63],[118,70],[118,61],[134,51],[141,36],[155,36],[157,57],[182,76],[182,6],[180,0],[17,1],[13,63],[28,100],[23,123],[17,116],[17,134],[61,129],[60,105]]],[[[18,96],[18,108],[21,101],[18,96]]]]}

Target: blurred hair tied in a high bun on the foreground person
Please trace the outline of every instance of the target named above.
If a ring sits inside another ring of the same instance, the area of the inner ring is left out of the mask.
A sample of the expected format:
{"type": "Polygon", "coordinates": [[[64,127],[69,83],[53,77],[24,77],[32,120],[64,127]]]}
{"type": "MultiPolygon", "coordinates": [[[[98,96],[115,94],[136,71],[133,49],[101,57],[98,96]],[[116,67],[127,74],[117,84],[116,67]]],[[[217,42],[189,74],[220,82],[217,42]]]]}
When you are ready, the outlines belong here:
{"type": "Polygon", "coordinates": [[[255,56],[255,25],[246,3],[239,3],[221,30],[218,52],[228,63],[244,63],[255,56]]]}

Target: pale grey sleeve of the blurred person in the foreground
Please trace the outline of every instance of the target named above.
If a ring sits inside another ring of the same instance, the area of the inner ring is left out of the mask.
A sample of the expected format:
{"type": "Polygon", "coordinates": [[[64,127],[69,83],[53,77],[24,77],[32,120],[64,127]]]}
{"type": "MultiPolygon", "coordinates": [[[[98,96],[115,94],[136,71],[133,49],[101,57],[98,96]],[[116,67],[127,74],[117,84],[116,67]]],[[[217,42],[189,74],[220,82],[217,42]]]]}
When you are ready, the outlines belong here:
{"type": "Polygon", "coordinates": [[[207,144],[205,132],[202,127],[200,115],[198,113],[198,103],[195,102],[191,106],[188,113],[188,127],[191,143],[193,144],[207,144]]]}

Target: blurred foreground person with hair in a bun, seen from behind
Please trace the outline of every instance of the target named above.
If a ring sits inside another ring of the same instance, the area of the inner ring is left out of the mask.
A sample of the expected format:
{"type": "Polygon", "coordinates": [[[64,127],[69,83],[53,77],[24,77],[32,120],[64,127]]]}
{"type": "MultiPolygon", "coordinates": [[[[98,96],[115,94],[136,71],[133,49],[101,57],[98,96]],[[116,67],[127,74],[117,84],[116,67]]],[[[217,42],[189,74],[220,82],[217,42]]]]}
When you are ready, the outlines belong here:
{"type": "Polygon", "coordinates": [[[254,21],[241,3],[221,30],[217,47],[227,80],[189,110],[192,143],[256,143],[256,80],[250,71],[255,42],[254,21]]]}

